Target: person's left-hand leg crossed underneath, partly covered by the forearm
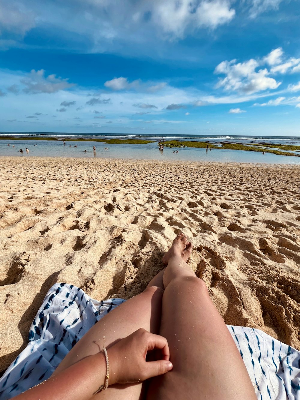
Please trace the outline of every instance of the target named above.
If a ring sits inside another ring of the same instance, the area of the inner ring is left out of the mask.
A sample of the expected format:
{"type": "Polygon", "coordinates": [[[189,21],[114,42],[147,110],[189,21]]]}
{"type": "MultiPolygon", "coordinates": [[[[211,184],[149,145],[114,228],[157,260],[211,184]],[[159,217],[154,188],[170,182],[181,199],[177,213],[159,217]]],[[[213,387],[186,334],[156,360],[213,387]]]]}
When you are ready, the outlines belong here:
{"type": "MultiPolygon", "coordinates": [[[[162,284],[163,271],[160,271],[148,284],[146,290],[141,294],[122,303],[115,310],[98,321],[72,350],[54,371],[56,373],[68,368],[82,358],[98,353],[103,347],[103,336],[105,346],[132,334],[139,328],[144,328],[152,333],[158,334],[162,308],[162,284]]],[[[97,371],[95,371],[95,374],[97,371]]],[[[93,399],[124,400],[142,398],[142,384],[112,385],[108,390],[93,396],[93,399]]]]}

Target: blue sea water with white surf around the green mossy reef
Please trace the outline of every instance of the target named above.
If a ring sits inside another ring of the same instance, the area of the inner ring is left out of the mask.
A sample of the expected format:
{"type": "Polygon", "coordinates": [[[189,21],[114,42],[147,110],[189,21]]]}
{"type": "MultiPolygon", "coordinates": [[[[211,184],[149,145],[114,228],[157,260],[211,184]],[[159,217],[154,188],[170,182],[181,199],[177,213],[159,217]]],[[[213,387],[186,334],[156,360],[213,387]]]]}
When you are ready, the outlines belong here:
{"type": "MultiPolygon", "coordinates": [[[[15,138],[26,138],[25,140],[9,139],[0,140],[0,156],[50,156],[50,157],[83,157],[83,158],[126,158],[126,159],[146,159],[146,160],[180,160],[180,161],[211,161],[211,162],[247,162],[263,164],[299,164],[300,157],[281,156],[277,154],[242,150],[218,150],[212,149],[206,152],[204,148],[164,148],[163,152],[158,150],[157,142],[165,140],[186,140],[203,141],[212,144],[221,142],[240,143],[240,144],[290,144],[300,146],[299,136],[245,136],[245,135],[157,135],[157,134],[91,134],[91,133],[64,133],[64,132],[0,132],[0,136],[14,136],[15,138]],[[33,138],[57,138],[54,140],[34,140],[33,138]],[[63,138],[70,138],[72,141],[64,145],[63,138]],[[90,139],[89,142],[76,142],[79,138],[90,139]],[[102,144],[93,142],[93,139],[144,139],[153,140],[149,144],[102,144]],[[7,146],[8,143],[10,146],[7,146]],[[13,148],[12,145],[15,147],[13,148]],[[77,146],[77,147],[74,147],[77,146]],[[93,146],[96,152],[93,152],[93,146]],[[108,150],[104,150],[108,147],[108,150]],[[21,154],[19,149],[22,148],[21,154]],[[25,149],[29,152],[26,153],[25,149]],[[86,152],[85,152],[86,150],[86,152]],[[173,151],[175,150],[175,154],[173,151]]],[[[295,152],[300,154],[300,151],[295,152]]]]}

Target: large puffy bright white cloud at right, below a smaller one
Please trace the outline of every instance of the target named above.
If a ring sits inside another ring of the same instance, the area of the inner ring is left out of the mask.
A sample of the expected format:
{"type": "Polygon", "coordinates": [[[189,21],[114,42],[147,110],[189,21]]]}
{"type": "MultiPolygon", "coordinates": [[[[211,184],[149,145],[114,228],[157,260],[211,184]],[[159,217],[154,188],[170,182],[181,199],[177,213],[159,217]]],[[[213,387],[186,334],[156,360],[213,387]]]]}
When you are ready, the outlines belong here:
{"type": "Polygon", "coordinates": [[[248,94],[278,88],[281,82],[270,78],[266,68],[256,72],[258,66],[258,62],[254,59],[239,63],[236,63],[236,60],[222,61],[214,72],[224,74],[225,78],[219,80],[216,88],[224,87],[225,90],[248,94]]]}

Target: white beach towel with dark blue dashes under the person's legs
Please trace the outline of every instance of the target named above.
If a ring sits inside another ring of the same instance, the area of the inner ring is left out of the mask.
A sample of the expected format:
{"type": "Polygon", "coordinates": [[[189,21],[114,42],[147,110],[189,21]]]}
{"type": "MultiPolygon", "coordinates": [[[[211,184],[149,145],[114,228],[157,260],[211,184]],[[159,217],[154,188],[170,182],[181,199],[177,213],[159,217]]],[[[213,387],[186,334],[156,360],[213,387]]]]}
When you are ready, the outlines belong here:
{"type": "MultiPolygon", "coordinates": [[[[0,399],[10,399],[48,379],[70,349],[124,302],[91,299],[69,284],[53,285],[29,332],[29,343],[0,378],[0,399]]],[[[261,330],[227,325],[259,400],[300,400],[300,352],[261,330]]]]}

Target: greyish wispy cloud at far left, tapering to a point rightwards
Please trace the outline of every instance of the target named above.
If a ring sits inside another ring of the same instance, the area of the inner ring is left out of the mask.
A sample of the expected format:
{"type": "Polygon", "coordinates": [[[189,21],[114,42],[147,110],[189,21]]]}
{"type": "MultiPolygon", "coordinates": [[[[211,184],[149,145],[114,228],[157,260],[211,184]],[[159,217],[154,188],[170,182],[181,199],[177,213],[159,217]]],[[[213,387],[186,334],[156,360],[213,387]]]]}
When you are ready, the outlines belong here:
{"type": "Polygon", "coordinates": [[[59,90],[65,90],[74,86],[69,83],[68,79],[56,78],[56,75],[44,76],[44,70],[31,70],[30,74],[27,74],[20,80],[25,85],[23,92],[25,93],[55,93],[59,90]]]}

